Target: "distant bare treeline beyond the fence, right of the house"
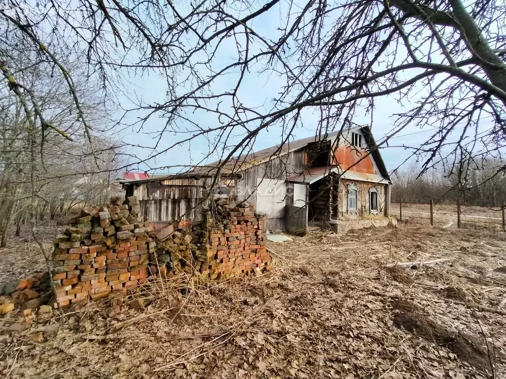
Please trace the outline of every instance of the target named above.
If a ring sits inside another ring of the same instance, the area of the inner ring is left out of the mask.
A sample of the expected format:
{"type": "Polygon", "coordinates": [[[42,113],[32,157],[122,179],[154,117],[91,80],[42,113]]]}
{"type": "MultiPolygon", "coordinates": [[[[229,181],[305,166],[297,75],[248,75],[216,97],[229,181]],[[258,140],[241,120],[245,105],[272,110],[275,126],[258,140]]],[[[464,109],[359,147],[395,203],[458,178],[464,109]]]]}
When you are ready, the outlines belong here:
{"type": "MultiPolygon", "coordinates": [[[[504,163],[502,163],[503,165],[504,163]]],[[[456,203],[501,206],[506,201],[506,175],[500,171],[501,162],[485,161],[481,167],[469,170],[431,169],[417,178],[416,164],[399,169],[392,175],[392,202],[456,203]]]]}

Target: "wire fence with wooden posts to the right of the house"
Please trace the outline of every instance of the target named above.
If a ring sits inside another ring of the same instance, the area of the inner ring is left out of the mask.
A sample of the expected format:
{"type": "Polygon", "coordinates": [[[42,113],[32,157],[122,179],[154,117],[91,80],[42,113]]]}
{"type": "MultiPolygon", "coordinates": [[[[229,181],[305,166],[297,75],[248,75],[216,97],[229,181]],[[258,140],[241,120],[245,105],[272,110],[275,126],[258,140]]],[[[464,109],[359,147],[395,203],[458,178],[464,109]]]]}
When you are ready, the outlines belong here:
{"type": "Polygon", "coordinates": [[[400,221],[405,219],[426,219],[431,225],[436,221],[450,221],[456,218],[457,227],[462,227],[462,223],[479,223],[499,225],[502,231],[506,231],[506,205],[502,207],[475,207],[465,206],[460,202],[454,205],[436,205],[434,201],[430,202],[405,202],[400,199],[398,202],[392,202],[391,214],[400,221]],[[497,215],[500,215],[497,217],[497,215]]]}

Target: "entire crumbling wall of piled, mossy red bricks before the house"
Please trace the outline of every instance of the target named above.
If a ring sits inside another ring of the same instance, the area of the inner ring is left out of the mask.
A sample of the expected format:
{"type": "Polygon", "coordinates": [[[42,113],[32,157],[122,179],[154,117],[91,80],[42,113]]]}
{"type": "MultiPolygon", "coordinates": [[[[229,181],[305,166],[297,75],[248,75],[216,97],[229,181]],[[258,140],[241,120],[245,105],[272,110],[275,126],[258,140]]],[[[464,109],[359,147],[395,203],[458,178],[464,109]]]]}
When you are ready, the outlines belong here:
{"type": "Polygon", "coordinates": [[[84,208],[55,240],[53,283],[57,302],[125,291],[154,275],[182,273],[221,279],[270,269],[263,220],[249,204],[212,204],[191,228],[159,232],[143,222],[137,198],[84,208]]]}

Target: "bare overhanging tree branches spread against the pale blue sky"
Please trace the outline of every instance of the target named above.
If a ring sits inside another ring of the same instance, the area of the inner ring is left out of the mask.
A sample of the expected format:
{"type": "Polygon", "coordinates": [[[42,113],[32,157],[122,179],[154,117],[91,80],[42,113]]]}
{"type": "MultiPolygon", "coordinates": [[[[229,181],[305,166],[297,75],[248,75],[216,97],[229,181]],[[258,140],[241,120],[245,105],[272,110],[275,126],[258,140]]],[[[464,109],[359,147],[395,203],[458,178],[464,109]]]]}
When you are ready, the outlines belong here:
{"type": "MultiPolygon", "coordinates": [[[[278,143],[288,143],[308,114],[322,135],[352,126],[364,112],[374,127],[374,104],[382,97],[399,103],[401,111],[378,141],[380,147],[408,125],[433,129],[425,143],[409,147],[423,159],[422,171],[441,163],[480,167],[485,158],[500,159],[503,152],[506,6],[501,3],[7,3],[0,10],[6,85],[24,91],[9,66],[19,53],[15,34],[37,51],[34,65],[49,64],[52,74],[65,80],[73,112],[88,138],[93,126],[83,117],[66,67],[69,57],[87,64],[88,74],[99,78],[109,93],[128,86],[133,75],[160,75],[165,93],[155,101],[130,94],[135,105],[119,120],[141,128],[153,119],[163,120],[151,130],[151,158],[206,138],[209,154],[225,163],[248,152],[268,127],[279,128],[278,143]],[[256,93],[261,101],[251,101],[251,89],[258,91],[256,77],[273,79],[273,96],[256,93]],[[174,144],[159,146],[168,132],[177,134],[174,144]]],[[[36,94],[30,101],[36,104],[36,94]]],[[[45,127],[36,113],[35,108],[34,117],[45,127]]]]}

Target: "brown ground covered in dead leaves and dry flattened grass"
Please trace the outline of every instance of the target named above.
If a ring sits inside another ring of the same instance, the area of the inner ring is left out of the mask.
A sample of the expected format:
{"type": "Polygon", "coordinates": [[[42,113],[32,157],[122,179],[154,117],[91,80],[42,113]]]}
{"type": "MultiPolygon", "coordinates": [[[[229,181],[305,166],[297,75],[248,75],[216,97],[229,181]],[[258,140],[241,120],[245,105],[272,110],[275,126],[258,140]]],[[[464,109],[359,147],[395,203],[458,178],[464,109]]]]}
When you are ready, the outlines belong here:
{"type": "MultiPolygon", "coordinates": [[[[0,282],[26,271],[19,257],[39,267],[25,245],[0,251],[0,282]]],[[[10,312],[1,376],[506,377],[505,234],[408,223],[268,247],[262,276],[158,281],[65,319],[31,316],[15,333],[25,320],[10,312]]]]}

